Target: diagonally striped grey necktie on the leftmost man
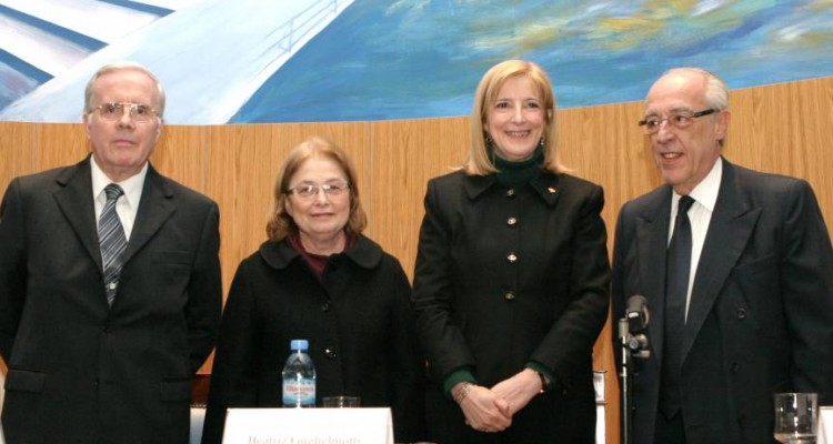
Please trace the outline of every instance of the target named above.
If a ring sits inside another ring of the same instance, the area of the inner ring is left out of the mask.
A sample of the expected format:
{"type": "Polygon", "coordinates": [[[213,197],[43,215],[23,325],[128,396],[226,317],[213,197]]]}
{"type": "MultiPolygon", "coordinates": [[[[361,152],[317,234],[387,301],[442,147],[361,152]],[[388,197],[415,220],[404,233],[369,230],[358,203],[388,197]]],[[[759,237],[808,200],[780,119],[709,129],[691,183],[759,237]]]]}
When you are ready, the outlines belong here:
{"type": "Polygon", "coordinates": [[[99,243],[101,244],[101,259],[104,264],[104,290],[107,291],[107,303],[112,306],[116,297],[116,289],[119,286],[119,274],[121,273],[121,261],[124,250],[128,248],[124,229],[121,226],[119,214],[116,213],[116,202],[124,194],[121,186],[111,183],[104,188],[107,203],[101,210],[99,218],[99,243]]]}

